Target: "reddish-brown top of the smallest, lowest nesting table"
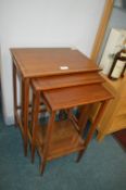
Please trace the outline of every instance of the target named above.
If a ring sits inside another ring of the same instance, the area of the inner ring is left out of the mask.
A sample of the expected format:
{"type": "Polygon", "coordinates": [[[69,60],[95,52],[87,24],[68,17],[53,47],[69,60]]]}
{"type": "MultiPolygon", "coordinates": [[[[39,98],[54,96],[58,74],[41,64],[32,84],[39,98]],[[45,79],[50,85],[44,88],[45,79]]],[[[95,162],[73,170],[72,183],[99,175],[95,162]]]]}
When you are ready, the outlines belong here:
{"type": "Polygon", "coordinates": [[[104,100],[113,96],[100,84],[75,86],[42,92],[51,110],[70,109],[104,100]]]}

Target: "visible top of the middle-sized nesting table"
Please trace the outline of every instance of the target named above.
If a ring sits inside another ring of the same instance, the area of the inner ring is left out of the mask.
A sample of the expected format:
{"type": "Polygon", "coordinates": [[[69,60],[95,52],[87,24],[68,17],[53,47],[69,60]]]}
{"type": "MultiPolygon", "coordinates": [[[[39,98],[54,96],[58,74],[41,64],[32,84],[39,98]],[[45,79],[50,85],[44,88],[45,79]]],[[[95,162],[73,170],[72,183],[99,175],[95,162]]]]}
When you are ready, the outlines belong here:
{"type": "Polygon", "coordinates": [[[73,87],[88,84],[102,84],[104,83],[103,77],[99,73],[77,73],[71,75],[60,75],[60,76],[48,76],[37,78],[33,80],[35,83],[37,90],[50,90],[55,88],[73,87]]]}

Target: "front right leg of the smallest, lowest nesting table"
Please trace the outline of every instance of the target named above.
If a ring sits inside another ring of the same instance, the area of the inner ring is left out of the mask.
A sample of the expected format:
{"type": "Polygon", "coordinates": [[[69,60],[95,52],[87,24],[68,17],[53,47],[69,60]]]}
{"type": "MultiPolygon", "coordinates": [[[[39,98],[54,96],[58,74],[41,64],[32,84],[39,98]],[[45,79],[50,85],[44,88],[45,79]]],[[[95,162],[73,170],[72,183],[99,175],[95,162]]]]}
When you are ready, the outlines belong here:
{"type": "Polygon", "coordinates": [[[97,114],[97,116],[96,116],[96,118],[94,118],[94,122],[93,122],[92,126],[90,127],[89,132],[88,132],[88,135],[87,135],[87,138],[86,138],[86,140],[85,140],[85,144],[84,144],[84,145],[85,145],[85,149],[81,150],[81,151],[79,151],[79,154],[78,154],[78,157],[77,157],[77,162],[80,161],[80,159],[81,159],[84,152],[86,151],[87,145],[89,144],[89,142],[90,142],[92,136],[93,136],[93,132],[94,132],[94,130],[96,130],[96,128],[97,128],[97,125],[98,125],[99,121],[101,119],[101,117],[102,117],[102,115],[103,115],[103,112],[104,112],[104,110],[105,110],[105,107],[106,107],[106,105],[108,105],[108,102],[109,102],[109,101],[103,101],[103,102],[102,102],[102,104],[101,104],[101,106],[100,106],[100,109],[99,109],[99,111],[98,111],[98,114],[97,114]]]}

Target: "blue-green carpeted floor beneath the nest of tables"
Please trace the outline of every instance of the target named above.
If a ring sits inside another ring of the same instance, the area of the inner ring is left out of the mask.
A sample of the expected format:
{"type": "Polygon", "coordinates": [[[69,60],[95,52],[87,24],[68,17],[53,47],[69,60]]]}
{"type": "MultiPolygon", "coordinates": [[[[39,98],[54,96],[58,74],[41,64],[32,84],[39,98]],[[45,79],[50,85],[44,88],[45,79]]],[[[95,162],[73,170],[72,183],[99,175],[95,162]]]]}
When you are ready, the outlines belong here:
{"type": "Polygon", "coordinates": [[[49,162],[41,177],[38,155],[24,157],[18,128],[0,118],[0,190],[126,190],[126,153],[111,136],[93,139],[78,164],[76,154],[49,162]]]}

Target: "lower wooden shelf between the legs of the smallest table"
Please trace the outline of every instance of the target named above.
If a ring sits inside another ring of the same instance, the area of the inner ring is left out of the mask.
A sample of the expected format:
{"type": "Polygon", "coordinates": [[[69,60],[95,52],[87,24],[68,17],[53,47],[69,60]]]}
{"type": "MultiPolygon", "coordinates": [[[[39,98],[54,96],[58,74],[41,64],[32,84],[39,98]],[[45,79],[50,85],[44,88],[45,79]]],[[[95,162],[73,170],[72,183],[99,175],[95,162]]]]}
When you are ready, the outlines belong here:
{"type": "MultiPolygon", "coordinates": [[[[42,156],[46,141],[46,126],[37,126],[37,148],[42,156]]],[[[84,149],[84,139],[71,121],[54,122],[49,147],[48,161],[84,149]]]]}

